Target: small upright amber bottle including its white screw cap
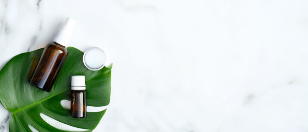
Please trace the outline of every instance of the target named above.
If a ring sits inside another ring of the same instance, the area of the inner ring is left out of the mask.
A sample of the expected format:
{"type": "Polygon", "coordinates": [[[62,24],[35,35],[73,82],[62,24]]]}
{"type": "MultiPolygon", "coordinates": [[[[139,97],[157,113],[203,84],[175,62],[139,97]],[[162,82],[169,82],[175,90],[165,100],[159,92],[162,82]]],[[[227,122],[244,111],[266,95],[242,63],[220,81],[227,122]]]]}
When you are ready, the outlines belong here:
{"type": "Polygon", "coordinates": [[[85,76],[72,76],[71,82],[71,117],[87,116],[85,76]]]}

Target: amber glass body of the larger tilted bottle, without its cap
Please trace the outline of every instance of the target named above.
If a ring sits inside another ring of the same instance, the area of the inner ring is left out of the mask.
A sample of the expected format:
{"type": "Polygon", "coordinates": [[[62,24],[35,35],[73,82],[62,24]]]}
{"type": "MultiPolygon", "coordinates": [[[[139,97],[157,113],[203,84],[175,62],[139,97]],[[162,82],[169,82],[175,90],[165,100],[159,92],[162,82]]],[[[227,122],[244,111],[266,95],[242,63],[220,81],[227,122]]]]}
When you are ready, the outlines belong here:
{"type": "Polygon", "coordinates": [[[64,46],[55,42],[48,43],[35,67],[30,84],[49,92],[67,58],[67,54],[67,49],[64,46]]]}

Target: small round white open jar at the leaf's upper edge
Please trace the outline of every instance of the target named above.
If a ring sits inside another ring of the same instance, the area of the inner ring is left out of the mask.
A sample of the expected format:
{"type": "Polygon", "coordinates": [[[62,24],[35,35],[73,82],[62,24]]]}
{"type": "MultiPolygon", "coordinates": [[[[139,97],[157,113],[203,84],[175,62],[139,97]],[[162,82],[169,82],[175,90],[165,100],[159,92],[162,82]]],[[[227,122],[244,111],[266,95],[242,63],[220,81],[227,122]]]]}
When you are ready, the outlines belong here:
{"type": "Polygon", "coordinates": [[[100,70],[106,64],[106,54],[98,47],[88,48],[83,55],[83,63],[90,70],[100,70]]]}

